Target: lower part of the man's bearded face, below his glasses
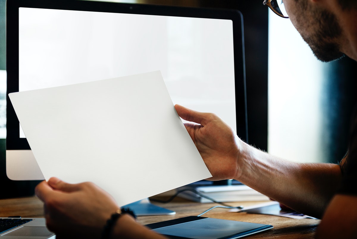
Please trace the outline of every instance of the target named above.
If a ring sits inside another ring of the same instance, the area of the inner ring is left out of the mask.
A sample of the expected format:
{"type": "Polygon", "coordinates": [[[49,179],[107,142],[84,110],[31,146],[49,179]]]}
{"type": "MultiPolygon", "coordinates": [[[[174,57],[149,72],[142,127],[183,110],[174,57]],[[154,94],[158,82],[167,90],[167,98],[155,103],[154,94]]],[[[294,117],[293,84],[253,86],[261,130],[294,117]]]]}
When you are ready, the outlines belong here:
{"type": "Polygon", "coordinates": [[[337,44],[342,30],[334,14],[317,8],[310,0],[283,0],[283,3],[292,24],[317,59],[332,61],[343,56],[337,44]]]}

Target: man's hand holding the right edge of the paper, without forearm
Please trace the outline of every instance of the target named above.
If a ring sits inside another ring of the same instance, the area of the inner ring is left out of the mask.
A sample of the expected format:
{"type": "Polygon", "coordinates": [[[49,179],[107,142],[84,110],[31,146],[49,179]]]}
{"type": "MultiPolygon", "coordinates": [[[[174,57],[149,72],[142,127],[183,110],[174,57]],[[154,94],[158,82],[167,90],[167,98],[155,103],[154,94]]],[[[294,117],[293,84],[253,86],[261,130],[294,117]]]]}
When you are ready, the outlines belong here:
{"type": "Polygon", "coordinates": [[[218,116],[200,113],[175,105],[177,114],[184,120],[186,129],[212,174],[208,180],[237,179],[237,160],[242,141],[218,116]]]}

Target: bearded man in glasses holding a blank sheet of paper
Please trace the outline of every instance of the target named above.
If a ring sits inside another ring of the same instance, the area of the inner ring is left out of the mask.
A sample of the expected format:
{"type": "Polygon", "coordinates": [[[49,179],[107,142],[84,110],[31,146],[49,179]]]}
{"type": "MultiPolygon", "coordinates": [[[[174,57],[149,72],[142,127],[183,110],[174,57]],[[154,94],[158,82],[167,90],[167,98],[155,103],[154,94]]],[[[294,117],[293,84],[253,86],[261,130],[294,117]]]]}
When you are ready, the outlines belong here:
{"type": "MultiPolygon", "coordinates": [[[[357,60],[356,0],[283,3],[293,25],[318,59],[330,61],[347,55],[357,60]]],[[[284,16],[276,2],[265,4],[284,16]]],[[[237,179],[290,208],[322,218],[316,238],[357,238],[356,115],[351,124],[349,151],[340,165],[298,164],[245,144],[214,114],[179,105],[175,108],[181,118],[198,124],[185,126],[213,175],[210,180],[237,179]]],[[[107,238],[162,238],[136,224],[127,214],[109,219],[118,206],[91,183],[67,184],[52,178],[39,184],[36,194],[45,203],[49,229],[59,238],[68,238],[69,234],[98,238],[103,228],[107,238]]]]}

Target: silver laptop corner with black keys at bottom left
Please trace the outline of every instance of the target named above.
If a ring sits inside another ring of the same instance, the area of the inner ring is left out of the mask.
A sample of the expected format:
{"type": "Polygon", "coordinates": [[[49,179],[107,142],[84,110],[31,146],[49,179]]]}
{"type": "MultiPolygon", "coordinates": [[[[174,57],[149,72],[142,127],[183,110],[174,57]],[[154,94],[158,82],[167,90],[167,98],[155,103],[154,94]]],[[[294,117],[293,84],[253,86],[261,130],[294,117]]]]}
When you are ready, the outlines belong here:
{"type": "Polygon", "coordinates": [[[1,239],[49,239],[56,235],[46,227],[44,218],[0,218],[1,239]]]}

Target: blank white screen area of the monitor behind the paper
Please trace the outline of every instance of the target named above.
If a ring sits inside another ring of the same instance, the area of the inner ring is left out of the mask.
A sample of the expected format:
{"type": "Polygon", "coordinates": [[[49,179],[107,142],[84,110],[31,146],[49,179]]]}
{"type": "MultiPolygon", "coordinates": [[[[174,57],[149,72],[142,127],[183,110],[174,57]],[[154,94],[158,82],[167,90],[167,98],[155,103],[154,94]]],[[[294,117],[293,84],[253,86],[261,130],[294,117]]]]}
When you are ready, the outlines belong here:
{"type": "Polygon", "coordinates": [[[231,20],[19,9],[20,91],[155,70],[174,104],[236,129],[231,20]]]}

